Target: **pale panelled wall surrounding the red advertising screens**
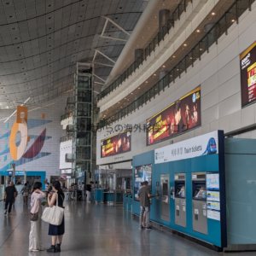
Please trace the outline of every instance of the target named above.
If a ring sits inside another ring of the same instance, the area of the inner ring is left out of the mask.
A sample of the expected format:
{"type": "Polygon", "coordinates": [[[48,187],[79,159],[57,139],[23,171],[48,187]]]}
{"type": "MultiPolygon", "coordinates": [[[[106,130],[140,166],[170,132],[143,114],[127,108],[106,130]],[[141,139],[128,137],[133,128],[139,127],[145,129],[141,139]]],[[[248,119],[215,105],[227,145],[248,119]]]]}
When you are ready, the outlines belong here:
{"type": "MultiPolygon", "coordinates": [[[[202,55],[201,61],[196,61],[194,67],[190,66],[187,73],[183,73],[174,84],[170,84],[169,88],[161,91],[159,96],[155,96],[142,108],[97,132],[96,164],[104,165],[116,161],[116,155],[101,158],[101,140],[117,134],[118,132],[114,131],[116,125],[122,125],[123,129],[127,124],[143,127],[146,125],[146,119],[199,85],[201,85],[201,127],[148,147],[146,132],[133,129],[131,152],[119,154],[122,160],[131,160],[133,155],[164,147],[171,141],[177,143],[210,131],[223,130],[224,133],[228,133],[256,125],[256,104],[241,109],[240,82],[240,54],[256,41],[255,26],[256,3],[254,2],[252,11],[245,11],[239,18],[239,24],[235,22],[230,26],[228,34],[219,38],[218,44],[213,44],[209,53],[202,55]]],[[[256,138],[256,132],[253,131],[248,136],[256,138]]]]}

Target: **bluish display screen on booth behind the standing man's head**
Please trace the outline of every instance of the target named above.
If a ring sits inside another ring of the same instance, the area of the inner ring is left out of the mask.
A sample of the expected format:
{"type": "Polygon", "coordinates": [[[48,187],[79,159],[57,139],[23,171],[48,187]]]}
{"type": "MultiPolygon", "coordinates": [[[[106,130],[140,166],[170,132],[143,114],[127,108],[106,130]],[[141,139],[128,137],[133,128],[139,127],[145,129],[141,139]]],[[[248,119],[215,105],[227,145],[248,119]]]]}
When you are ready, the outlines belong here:
{"type": "Polygon", "coordinates": [[[150,194],[152,192],[152,165],[136,166],[134,168],[134,200],[137,199],[138,191],[143,187],[142,183],[148,181],[150,194]]]}

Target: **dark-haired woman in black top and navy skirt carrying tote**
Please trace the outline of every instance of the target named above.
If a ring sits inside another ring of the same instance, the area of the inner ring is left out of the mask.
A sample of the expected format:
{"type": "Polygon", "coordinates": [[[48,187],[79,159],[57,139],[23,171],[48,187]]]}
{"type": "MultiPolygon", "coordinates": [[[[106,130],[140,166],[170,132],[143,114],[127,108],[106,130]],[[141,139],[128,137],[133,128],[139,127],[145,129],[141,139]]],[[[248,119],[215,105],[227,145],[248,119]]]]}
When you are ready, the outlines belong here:
{"type": "MultiPolygon", "coordinates": [[[[55,193],[49,193],[49,195],[48,195],[49,207],[53,207],[56,205],[56,199],[58,196],[58,207],[64,208],[63,207],[64,194],[61,189],[61,183],[59,181],[55,181],[52,184],[52,189],[55,191],[55,193]]],[[[49,224],[48,235],[51,236],[51,247],[49,247],[49,249],[47,250],[48,253],[61,252],[61,241],[62,241],[64,233],[65,233],[64,216],[63,216],[62,222],[59,226],[49,224]],[[57,237],[58,237],[59,243],[56,244],[57,237]]]]}

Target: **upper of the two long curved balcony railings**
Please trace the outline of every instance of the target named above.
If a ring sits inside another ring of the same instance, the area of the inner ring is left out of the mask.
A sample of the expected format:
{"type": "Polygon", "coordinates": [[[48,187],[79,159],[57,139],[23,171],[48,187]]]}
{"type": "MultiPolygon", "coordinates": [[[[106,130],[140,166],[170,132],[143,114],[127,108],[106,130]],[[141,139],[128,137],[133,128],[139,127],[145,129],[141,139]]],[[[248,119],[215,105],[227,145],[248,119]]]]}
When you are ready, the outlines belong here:
{"type": "Polygon", "coordinates": [[[174,27],[174,24],[177,20],[179,20],[180,16],[183,14],[183,12],[186,11],[187,6],[189,3],[192,3],[192,0],[182,0],[178,5],[177,8],[174,10],[170,18],[166,21],[165,26],[162,27],[160,32],[157,33],[157,35],[153,38],[153,40],[148,44],[148,47],[146,49],[143,49],[142,55],[139,55],[135,61],[131,64],[130,67],[128,67],[124,73],[122,73],[118,79],[116,79],[112,84],[110,84],[105,90],[102,90],[97,95],[97,100],[100,101],[104,96],[107,96],[111,91],[116,89],[119,84],[122,84],[125,79],[127,79],[129,76],[131,76],[131,73],[135,72],[135,70],[143,64],[143,61],[147,60],[147,57],[150,56],[150,53],[154,51],[155,47],[160,44],[160,41],[163,40],[167,33],[169,33],[172,26],[174,27]]]}

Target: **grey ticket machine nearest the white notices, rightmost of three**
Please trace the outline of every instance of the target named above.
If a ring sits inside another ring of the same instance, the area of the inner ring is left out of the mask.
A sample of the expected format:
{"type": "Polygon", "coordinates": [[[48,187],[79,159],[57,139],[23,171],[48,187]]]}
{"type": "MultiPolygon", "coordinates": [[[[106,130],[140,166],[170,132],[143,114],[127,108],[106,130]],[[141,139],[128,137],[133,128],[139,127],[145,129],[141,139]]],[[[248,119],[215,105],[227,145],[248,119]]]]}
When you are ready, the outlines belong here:
{"type": "Polygon", "coordinates": [[[193,230],[207,235],[207,172],[192,172],[193,230]]]}

